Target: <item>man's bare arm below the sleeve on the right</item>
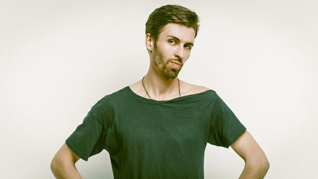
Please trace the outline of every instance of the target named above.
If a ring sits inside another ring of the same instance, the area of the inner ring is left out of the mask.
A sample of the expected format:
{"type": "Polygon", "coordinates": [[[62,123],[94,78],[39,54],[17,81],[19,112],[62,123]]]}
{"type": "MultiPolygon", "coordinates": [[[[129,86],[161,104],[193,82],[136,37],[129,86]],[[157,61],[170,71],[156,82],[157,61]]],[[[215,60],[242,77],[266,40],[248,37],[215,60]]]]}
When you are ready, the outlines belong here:
{"type": "Polygon", "coordinates": [[[269,162],[262,148],[248,131],[245,131],[231,147],[245,161],[240,179],[264,178],[269,168],[269,162]]]}

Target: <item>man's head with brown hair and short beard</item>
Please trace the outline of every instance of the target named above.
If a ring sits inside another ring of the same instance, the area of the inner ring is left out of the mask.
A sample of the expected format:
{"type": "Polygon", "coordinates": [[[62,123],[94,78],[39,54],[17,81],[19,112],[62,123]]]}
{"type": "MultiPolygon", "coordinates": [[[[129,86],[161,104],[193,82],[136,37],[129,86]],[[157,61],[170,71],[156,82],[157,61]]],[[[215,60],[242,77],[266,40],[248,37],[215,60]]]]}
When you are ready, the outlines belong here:
{"type": "Polygon", "coordinates": [[[190,56],[198,31],[195,12],[178,5],[155,9],[146,23],[150,70],[173,79],[190,56]]]}

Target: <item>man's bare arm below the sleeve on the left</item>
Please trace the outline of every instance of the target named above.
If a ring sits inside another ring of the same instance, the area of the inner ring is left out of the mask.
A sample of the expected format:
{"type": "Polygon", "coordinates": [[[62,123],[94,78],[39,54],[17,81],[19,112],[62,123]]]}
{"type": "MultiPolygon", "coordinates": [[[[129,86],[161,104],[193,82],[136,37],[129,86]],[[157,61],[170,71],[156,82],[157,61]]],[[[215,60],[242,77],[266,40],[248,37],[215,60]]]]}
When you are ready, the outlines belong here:
{"type": "Polygon", "coordinates": [[[82,178],[75,167],[80,158],[64,143],[51,162],[51,170],[56,178],[82,178]]]}

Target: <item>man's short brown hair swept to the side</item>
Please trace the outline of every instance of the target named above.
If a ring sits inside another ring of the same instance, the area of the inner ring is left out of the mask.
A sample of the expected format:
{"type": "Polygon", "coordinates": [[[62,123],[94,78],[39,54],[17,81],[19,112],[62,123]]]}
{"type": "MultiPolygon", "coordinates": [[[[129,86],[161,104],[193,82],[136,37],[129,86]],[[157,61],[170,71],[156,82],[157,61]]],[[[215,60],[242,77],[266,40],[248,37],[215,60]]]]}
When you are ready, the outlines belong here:
{"type": "Polygon", "coordinates": [[[166,5],[155,9],[149,15],[146,23],[146,34],[150,33],[150,36],[156,42],[159,34],[169,23],[193,28],[195,32],[194,38],[199,30],[199,16],[194,11],[180,5],[166,5]]]}

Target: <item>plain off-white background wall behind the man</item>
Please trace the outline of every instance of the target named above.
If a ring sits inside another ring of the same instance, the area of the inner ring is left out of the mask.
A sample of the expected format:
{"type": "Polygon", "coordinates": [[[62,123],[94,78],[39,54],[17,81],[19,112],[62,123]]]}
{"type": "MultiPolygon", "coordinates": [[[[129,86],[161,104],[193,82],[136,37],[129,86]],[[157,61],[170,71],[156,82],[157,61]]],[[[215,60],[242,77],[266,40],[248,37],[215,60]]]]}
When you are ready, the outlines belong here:
{"type": "MultiPolygon", "coordinates": [[[[90,107],[147,72],[145,22],[166,4],[201,19],[179,78],[231,107],[268,156],[266,178],[317,177],[317,1],[16,0],[0,6],[0,178],[53,178],[53,155],[90,107]]],[[[243,166],[207,145],[206,178],[243,166]]],[[[106,151],[77,167],[112,178],[106,151]]]]}

